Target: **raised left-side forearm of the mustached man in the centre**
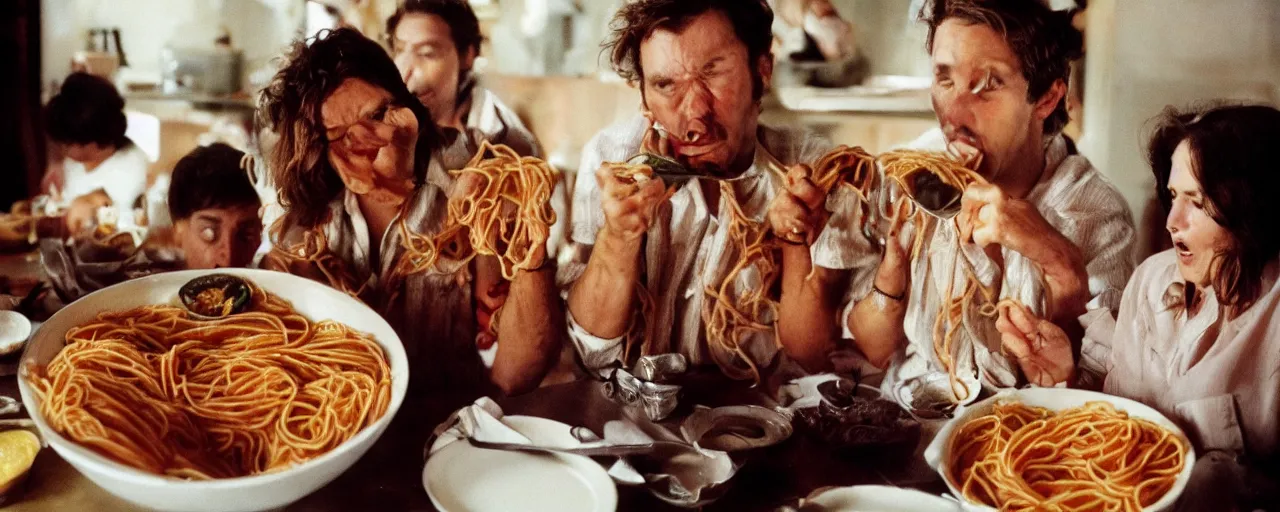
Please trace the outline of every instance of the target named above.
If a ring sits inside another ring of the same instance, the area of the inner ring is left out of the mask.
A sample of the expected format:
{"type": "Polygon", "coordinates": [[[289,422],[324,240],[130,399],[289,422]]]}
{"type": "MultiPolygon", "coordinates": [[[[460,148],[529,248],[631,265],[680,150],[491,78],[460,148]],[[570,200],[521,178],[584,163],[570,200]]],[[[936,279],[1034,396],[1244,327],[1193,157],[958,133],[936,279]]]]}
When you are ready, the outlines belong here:
{"type": "Polygon", "coordinates": [[[640,280],[640,241],[625,241],[602,229],[582,276],[568,292],[577,325],[599,338],[617,338],[631,325],[640,280]]]}

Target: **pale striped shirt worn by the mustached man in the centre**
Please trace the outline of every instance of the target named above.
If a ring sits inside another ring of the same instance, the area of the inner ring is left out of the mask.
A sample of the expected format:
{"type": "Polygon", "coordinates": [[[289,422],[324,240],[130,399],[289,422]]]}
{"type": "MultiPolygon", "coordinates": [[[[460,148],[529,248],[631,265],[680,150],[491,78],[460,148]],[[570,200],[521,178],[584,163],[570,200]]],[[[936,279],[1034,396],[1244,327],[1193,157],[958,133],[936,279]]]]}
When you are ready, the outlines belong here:
{"type": "MultiPolygon", "coordinates": [[[[648,122],[643,116],[635,116],[605,128],[588,142],[573,192],[575,242],[594,246],[595,237],[604,225],[600,189],[595,182],[596,169],[602,163],[626,161],[635,156],[646,129],[648,122]]],[[[769,204],[783,187],[782,175],[769,169],[774,166],[768,163],[769,157],[782,165],[813,163],[832,146],[812,133],[768,127],[762,127],[759,133],[755,163],[733,179],[733,187],[742,211],[755,221],[764,221],[769,204]]],[[[668,347],[666,352],[685,355],[691,365],[713,362],[701,320],[705,288],[719,283],[730,266],[737,262],[739,255],[727,247],[728,230],[722,229],[721,219],[728,215],[726,209],[722,198],[716,205],[717,215],[712,215],[701,187],[696,180],[690,180],[658,210],[645,239],[644,285],[654,298],[653,317],[646,321],[659,325],[655,329],[658,339],[650,343],[654,347],[668,347]]],[[[865,279],[879,257],[861,234],[856,196],[840,188],[828,200],[827,209],[833,214],[810,248],[814,264],[828,269],[854,269],[856,275],[865,279]]],[[[576,261],[563,269],[570,280],[581,275],[589,255],[590,251],[580,251],[576,261]]],[[[759,288],[759,275],[754,271],[742,273],[735,284],[736,291],[759,288]]],[[[572,315],[568,315],[568,328],[570,338],[586,367],[599,370],[622,361],[623,338],[593,335],[572,315]]],[[[768,362],[778,352],[774,338],[773,332],[758,333],[749,335],[742,343],[756,362],[768,362]]]]}

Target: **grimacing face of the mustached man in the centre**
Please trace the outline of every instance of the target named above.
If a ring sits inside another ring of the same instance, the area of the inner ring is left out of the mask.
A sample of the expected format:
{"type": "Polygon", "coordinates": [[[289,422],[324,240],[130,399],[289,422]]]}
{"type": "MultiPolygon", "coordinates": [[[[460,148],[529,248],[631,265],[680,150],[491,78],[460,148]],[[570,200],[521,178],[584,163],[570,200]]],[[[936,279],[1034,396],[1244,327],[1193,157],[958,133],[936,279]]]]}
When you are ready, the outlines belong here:
{"type": "Polygon", "coordinates": [[[640,44],[640,69],[650,120],[666,129],[678,160],[713,175],[750,163],[759,122],[754,73],[768,87],[773,60],[751,63],[724,13],[654,31],[640,44]]]}

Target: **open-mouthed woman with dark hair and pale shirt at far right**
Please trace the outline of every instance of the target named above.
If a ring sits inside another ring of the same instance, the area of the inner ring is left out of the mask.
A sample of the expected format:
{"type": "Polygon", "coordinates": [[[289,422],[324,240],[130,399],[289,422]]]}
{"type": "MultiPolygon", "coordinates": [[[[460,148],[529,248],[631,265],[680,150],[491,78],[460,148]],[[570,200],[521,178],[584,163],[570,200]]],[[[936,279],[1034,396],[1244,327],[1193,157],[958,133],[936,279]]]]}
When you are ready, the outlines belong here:
{"type": "Polygon", "coordinates": [[[1107,393],[1181,424],[1212,466],[1206,489],[1245,495],[1268,486],[1252,477],[1275,476],[1280,457],[1276,147],[1280,110],[1270,106],[1166,114],[1149,159],[1174,248],[1138,268],[1119,317],[1082,317],[1079,362],[1052,323],[1012,308],[997,324],[1030,381],[1070,383],[1078,367],[1103,375],[1107,393]]]}

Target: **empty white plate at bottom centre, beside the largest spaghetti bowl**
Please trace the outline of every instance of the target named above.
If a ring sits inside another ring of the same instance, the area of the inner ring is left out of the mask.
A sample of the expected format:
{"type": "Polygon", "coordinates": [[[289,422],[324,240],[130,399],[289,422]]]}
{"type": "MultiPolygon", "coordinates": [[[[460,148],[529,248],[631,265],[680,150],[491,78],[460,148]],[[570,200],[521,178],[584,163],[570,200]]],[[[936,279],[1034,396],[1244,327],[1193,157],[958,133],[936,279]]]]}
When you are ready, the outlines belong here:
{"type": "MultiPolygon", "coordinates": [[[[535,444],[579,444],[570,426],[532,416],[504,416],[535,444]]],[[[453,442],[426,461],[422,486],[445,512],[612,512],[618,490],[595,461],[571,454],[483,449],[453,442]]]]}

